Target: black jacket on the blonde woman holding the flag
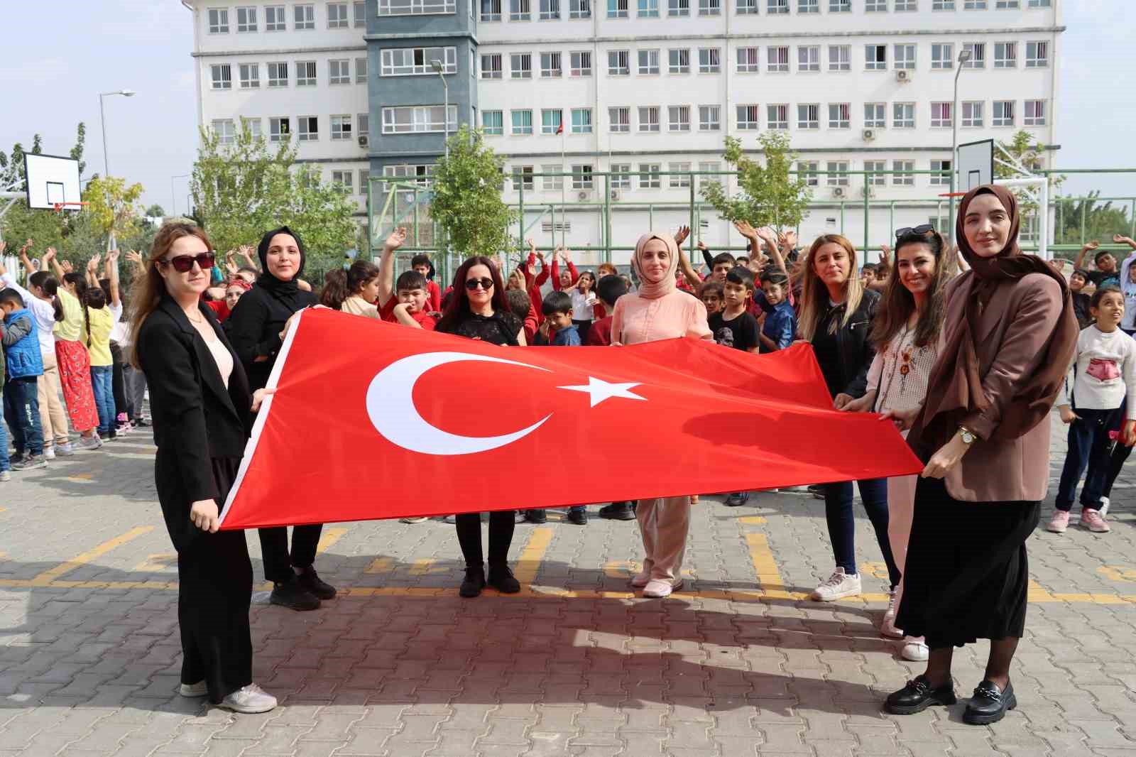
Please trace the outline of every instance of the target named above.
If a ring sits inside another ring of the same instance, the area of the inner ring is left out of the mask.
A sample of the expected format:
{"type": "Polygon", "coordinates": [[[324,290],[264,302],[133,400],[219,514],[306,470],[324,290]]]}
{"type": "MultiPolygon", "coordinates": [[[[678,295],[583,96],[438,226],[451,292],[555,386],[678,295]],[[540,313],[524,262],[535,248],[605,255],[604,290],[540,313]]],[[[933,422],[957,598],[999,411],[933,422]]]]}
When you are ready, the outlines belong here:
{"type": "Polygon", "coordinates": [[[812,336],[812,350],[817,353],[820,372],[825,374],[828,393],[835,398],[840,393],[853,398],[863,397],[868,391],[868,368],[876,357],[876,350],[868,335],[871,322],[876,319],[879,293],[864,290],[860,307],[852,314],[847,325],[841,327],[845,303],[829,307],[820,317],[817,333],[812,336]],[[829,326],[836,322],[836,333],[829,326]]]}

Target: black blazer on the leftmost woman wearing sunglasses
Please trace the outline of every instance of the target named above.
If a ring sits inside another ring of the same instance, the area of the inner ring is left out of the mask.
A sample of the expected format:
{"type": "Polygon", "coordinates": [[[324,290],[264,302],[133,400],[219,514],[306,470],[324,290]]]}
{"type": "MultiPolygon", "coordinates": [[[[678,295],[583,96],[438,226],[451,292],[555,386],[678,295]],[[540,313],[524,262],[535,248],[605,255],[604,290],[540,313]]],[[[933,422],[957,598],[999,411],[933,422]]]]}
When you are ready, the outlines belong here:
{"type": "MultiPolygon", "coordinates": [[[[233,352],[212,310],[204,306],[198,309],[233,352]]],[[[142,323],[136,339],[158,443],[154,460],[158,501],[169,538],[181,551],[200,533],[190,522],[190,506],[227,494],[217,491],[212,460],[244,455],[252,431],[252,397],[235,352],[233,373],[225,389],[204,340],[170,298],[161,299],[142,323]]]]}

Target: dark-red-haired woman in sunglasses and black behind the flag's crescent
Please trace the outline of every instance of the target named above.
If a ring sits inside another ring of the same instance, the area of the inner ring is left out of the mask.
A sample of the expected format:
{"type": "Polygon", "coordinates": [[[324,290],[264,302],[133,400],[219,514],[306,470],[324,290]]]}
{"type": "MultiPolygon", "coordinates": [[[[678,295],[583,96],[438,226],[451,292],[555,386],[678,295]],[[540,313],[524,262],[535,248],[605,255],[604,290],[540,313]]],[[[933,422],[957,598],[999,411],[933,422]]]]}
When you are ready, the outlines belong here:
{"type": "MultiPolygon", "coordinates": [[[[453,275],[453,297],[445,307],[436,331],[477,339],[492,344],[525,343],[524,324],[512,315],[504,297],[501,273],[492,260],[469,258],[453,275]]],[[[486,584],[482,557],[482,516],[461,513],[457,516],[458,543],[466,558],[466,579],[459,593],[476,597],[486,584]]],[[[520,584],[506,565],[512,543],[513,511],[490,513],[488,584],[507,594],[520,591],[520,584]]]]}

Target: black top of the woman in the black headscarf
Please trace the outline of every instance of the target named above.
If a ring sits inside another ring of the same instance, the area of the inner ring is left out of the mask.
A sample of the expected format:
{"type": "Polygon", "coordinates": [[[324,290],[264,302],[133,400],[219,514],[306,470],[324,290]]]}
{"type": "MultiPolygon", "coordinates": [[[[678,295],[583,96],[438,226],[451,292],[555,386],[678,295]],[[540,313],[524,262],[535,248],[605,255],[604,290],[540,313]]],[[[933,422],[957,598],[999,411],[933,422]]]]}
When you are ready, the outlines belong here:
{"type": "Polygon", "coordinates": [[[261,276],[256,286],[241,296],[225,321],[225,331],[244,366],[252,390],[268,384],[276,355],[283,346],[279,334],[289,317],[318,302],[315,294],[302,289],[276,289],[265,283],[272,282],[265,282],[265,276],[261,276]],[[260,356],[268,359],[257,363],[260,356]]]}

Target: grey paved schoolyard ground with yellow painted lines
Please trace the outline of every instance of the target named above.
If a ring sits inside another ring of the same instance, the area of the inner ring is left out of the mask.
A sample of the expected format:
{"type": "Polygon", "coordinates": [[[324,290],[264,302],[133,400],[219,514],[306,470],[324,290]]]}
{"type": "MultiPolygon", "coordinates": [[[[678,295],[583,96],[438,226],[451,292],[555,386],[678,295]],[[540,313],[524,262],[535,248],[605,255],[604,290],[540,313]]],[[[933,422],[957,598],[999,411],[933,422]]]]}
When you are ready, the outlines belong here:
{"type": "MultiPolygon", "coordinates": [[[[1054,447],[1059,471],[1060,434],[1054,447]]],[[[474,600],[457,597],[452,526],[328,525],[317,567],[339,599],[293,613],[254,597],[256,680],[282,707],[208,708],[174,692],[176,569],[152,460],[132,434],[0,484],[0,757],[1136,756],[1131,473],[1112,533],[1030,540],[1019,709],[976,727],[961,702],[880,712],[921,665],[878,634],[886,584],[867,519],[870,593],[809,602],[832,571],[822,502],[771,493],[702,499],[685,590],[667,600],[627,591],[634,523],[518,526],[526,590],[474,600]]],[[[252,534],[249,548],[259,582],[252,534]]],[[[969,696],[985,644],[955,659],[969,696]]]]}

